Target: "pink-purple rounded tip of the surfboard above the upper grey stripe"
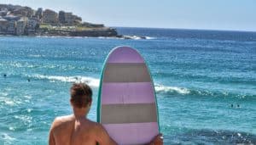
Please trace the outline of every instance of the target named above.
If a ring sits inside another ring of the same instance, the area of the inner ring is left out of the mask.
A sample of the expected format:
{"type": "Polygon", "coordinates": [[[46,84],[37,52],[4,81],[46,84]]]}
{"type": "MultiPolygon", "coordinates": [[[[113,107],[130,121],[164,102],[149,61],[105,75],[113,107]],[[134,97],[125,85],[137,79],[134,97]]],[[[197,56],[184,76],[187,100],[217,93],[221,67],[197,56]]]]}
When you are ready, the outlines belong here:
{"type": "Polygon", "coordinates": [[[108,63],[144,63],[144,60],[131,47],[117,47],[108,56],[108,63]]]}

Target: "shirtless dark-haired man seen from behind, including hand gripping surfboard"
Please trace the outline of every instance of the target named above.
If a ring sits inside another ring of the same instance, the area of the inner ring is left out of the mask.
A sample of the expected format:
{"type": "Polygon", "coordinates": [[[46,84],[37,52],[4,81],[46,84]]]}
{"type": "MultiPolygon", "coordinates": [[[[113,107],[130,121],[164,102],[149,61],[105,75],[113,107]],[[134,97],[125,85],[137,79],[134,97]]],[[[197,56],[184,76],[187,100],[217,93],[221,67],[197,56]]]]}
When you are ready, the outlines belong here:
{"type": "MultiPolygon", "coordinates": [[[[92,91],[84,83],[75,83],[70,89],[70,103],[73,114],[55,118],[49,131],[49,145],[112,145],[117,144],[104,127],[88,120],[86,115],[90,111],[92,91]]],[[[162,145],[161,135],[154,137],[150,145],[162,145]]]]}

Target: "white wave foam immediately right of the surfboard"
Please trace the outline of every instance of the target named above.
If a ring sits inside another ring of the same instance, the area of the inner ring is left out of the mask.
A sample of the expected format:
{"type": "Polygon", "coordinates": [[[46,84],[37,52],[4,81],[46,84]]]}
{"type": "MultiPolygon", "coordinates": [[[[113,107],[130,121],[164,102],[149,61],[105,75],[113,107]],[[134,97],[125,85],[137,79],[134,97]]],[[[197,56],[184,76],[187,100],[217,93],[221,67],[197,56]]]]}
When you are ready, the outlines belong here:
{"type": "Polygon", "coordinates": [[[180,94],[189,94],[189,89],[177,86],[164,86],[164,85],[155,85],[155,92],[177,92],[180,94]]]}

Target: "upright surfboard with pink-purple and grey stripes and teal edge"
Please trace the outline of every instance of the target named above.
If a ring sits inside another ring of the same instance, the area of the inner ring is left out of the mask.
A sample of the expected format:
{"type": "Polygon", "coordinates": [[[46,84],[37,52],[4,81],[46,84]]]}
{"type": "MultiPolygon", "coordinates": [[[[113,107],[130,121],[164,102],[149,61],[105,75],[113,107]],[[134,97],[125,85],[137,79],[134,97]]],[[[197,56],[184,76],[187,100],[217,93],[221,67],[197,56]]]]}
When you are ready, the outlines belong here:
{"type": "Polygon", "coordinates": [[[145,144],[159,134],[154,82],[137,50],[115,47],[103,65],[97,121],[118,144],[145,144]]]}

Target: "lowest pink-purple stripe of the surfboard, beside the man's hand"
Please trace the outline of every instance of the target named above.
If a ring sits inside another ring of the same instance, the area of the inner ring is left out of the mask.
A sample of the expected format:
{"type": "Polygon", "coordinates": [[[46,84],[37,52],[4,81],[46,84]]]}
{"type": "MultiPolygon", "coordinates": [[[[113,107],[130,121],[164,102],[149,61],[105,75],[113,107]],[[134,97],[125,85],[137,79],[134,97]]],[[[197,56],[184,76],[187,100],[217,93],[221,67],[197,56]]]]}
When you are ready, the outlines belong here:
{"type": "Polygon", "coordinates": [[[118,144],[145,144],[158,135],[156,122],[103,125],[118,144]]]}

